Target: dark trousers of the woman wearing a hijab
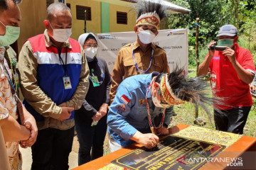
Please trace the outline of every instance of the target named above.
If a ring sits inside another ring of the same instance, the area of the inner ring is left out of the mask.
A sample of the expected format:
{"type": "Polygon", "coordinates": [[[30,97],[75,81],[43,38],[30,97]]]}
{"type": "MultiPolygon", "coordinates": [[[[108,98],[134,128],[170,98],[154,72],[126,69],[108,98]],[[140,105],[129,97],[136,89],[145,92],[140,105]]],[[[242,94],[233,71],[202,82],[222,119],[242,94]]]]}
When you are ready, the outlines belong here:
{"type": "Polygon", "coordinates": [[[85,164],[103,156],[103,145],[107,132],[107,115],[97,125],[85,123],[75,116],[75,130],[78,133],[78,165],[85,164]],[[92,152],[91,152],[92,150],[92,152]]]}

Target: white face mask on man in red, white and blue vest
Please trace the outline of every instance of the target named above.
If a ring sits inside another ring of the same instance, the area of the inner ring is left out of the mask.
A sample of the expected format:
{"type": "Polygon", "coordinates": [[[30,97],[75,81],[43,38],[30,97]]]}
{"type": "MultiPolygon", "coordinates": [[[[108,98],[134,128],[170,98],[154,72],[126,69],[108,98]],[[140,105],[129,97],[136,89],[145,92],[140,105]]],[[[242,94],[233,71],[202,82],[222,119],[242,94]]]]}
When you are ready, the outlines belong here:
{"type": "MultiPolygon", "coordinates": [[[[50,27],[53,28],[51,25],[50,27]]],[[[71,34],[72,28],[53,29],[53,39],[58,42],[65,42],[66,40],[68,40],[68,38],[70,38],[71,34]]]]}

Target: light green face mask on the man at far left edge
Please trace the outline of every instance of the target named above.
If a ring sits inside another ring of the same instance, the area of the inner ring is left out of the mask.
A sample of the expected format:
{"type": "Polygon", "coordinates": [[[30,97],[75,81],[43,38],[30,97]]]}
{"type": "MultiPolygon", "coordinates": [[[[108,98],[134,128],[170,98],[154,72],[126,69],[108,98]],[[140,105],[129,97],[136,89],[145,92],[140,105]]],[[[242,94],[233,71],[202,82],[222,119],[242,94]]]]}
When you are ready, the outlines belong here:
{"type": "MultiPolygon", "coordinates": [[[[0,21],[1,24],[4,25],[0,21]]],[[[20,28],[19,27],[14,27],[14,26],[6,26],[6,33],[5,35],[0,35],[0,46],[6,46],[6,45],[11,45],[14,43],[16,40],[18,40],[18,37],[20,35],[20,28]]]]}

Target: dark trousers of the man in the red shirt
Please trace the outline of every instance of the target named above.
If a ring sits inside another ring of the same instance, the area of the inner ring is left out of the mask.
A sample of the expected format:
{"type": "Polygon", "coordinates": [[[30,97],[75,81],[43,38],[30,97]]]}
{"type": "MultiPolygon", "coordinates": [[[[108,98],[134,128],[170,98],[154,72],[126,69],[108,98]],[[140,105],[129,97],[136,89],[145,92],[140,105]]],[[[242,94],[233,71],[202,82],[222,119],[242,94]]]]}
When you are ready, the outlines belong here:
{"type": "Polygon", "coordinates": [[[238,107],[224,111],[214,110],[216,130],[242,135],[250,108],[251,106],[238,107]]]}

